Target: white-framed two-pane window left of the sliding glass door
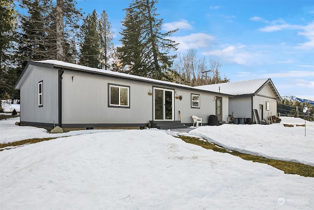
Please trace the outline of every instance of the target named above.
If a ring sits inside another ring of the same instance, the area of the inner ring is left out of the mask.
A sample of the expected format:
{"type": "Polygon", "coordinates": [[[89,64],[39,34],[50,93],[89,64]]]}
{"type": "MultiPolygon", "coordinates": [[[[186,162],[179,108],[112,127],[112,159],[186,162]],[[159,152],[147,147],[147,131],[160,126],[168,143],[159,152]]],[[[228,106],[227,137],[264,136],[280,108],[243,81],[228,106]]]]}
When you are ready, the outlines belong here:
{"type": "Polygon", "coordinates": [[[108,84],[109,106],[130,108],[130,87],[108,84]]]}

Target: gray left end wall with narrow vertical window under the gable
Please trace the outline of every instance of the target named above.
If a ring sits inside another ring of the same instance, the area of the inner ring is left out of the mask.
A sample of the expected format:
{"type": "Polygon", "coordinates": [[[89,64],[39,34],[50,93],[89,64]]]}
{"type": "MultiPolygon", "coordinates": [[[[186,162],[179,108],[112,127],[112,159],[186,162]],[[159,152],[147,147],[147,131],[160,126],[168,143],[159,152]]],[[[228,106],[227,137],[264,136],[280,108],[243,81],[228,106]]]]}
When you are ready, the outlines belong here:
{"type": "Polygon", "coordinates": [[[21,121],[58,123],[58,70],[28,66],[21,86],[21,121]],[[38,83],[43,81],[43,106],[38,106],[38,83]]]}

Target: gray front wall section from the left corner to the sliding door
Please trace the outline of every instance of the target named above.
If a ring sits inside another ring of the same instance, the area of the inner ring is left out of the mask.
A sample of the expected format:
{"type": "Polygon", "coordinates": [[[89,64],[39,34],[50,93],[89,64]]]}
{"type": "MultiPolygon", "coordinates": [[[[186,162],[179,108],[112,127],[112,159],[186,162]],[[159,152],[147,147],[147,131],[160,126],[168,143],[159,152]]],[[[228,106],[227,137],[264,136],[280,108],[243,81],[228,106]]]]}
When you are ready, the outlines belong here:
{"type": "Polygon", "coordinates": [[[75,71],[65,71],[62,77],[62,124],[148,123],[152,120],[152,96],[148,95],[152,86],[75,71]],[[130,108],[108,107],[108,83],[130,86],[130,108]]]}

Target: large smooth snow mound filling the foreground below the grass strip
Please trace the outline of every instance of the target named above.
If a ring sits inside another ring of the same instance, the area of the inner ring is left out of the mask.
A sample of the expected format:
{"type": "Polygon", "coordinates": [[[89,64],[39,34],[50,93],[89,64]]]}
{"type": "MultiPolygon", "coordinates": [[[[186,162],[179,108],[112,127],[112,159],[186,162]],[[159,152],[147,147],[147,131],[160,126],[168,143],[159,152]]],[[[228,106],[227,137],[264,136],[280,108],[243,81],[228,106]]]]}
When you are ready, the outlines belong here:
{"type": "Polygon", "coordinates": [[[0,151],[0,163],[1,210],[314,206],[314,178],[205,150],[155,129],[30,144],[0,151]]]}

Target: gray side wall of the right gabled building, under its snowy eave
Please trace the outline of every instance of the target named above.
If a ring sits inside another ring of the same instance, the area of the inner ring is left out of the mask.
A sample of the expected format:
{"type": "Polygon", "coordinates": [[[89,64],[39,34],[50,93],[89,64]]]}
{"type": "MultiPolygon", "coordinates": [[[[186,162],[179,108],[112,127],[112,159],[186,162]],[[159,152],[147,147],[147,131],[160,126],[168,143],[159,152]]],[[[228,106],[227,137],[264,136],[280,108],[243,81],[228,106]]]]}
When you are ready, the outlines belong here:
{"type": "Polygon", "coordinates": [[[252,117],[252,97],[230,98],[229,114],[234,113],[235,118],[252,117]]]}

